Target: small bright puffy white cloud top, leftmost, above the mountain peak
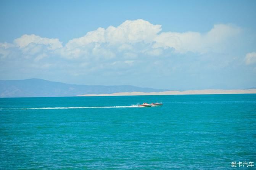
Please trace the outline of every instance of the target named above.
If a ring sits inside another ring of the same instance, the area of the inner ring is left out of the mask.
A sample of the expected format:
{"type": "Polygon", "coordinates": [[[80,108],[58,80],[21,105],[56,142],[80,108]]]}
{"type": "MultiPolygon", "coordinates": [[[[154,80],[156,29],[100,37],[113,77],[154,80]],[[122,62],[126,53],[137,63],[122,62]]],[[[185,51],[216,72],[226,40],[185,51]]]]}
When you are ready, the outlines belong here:
{"type": "Polygon", "coordinates": [[[42,38],[38,35],[22,35],[20,38],[14,40],[14,43],[20,48],[27,47],[30,43],[47,45],[49,50],[55,50],[57,48],[62,48],[62,44],[57,38],[42,38]]]}

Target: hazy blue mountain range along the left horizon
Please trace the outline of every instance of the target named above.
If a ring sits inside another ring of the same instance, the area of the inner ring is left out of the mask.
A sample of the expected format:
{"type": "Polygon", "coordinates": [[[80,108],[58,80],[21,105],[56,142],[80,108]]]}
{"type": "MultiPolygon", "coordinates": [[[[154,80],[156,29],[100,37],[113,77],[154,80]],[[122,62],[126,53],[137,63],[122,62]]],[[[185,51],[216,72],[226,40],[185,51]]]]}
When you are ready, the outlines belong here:
{"type": "Polygon", "coordinates": [[[131,85],[101,86],[72,85],[42,79],[0,80],[0,98],[5,97],[53,97],[87,94],[111,94],[119,92],[160,92],[166,89],[141,88],[131,85]]]}

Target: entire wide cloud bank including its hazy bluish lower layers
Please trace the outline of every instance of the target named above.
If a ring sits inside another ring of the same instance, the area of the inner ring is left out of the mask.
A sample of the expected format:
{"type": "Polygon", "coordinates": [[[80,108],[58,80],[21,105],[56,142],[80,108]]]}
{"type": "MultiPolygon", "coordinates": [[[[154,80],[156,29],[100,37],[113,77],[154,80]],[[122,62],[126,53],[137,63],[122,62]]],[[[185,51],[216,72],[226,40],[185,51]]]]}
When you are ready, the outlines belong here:
{"type": "MultiPolygon", "coordinates": [[[[233,38],[241,34],[242,29],[232,24],[215,24],[207,32],[163,32],[161,25],[143,19],[127,20],[116,27],[99,27],[66,44],[58,38],[25,34],[11,43],[0,43],[0,77],[50,75],[56,79],[65,74],[87,80],[111,77],[108,80],[113,83],[127,77],[130,84],[132,77],[152,71],[151,82],[159,74],[193,75],[232,63],[233,56],[228,54],[224,59],[223,54],[233,45],[233,38]]],[[[255,64],[255,58],[255,52],[248,53],[245,63],[255,64]]]]}

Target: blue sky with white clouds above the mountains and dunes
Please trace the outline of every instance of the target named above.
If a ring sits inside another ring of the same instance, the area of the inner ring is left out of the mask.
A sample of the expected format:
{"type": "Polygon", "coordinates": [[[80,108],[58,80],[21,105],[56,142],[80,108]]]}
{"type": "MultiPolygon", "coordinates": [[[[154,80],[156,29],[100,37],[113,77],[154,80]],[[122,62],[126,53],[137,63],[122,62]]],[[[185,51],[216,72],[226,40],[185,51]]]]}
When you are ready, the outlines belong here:
{"type": "Polygon", "coordinates": [[[0,80],[256,87],[256,1],[0,1],[0,80]]]}

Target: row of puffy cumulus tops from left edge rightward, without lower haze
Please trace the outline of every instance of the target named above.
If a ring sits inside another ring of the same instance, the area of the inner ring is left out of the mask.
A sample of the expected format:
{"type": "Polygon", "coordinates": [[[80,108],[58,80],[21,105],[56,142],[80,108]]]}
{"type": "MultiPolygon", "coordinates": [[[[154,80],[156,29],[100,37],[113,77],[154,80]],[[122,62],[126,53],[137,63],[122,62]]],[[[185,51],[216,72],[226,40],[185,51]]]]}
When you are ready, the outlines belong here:
{"type": "Polygon", "coordinates": [[[216,24],[206,33],[161,30],[161,25],[151,24],[143,19],[127,20],[117,27],[109,26],[88,32],[83,37],[69,40],[64,46],[57,38],[25,34],[16,38],[13,43],[0,43],[0,55],[1,58],[6,58],[10,54],[8,48],[15,47],[21,51],[21,56],[34,56],[35,61],[45,58],[45,55],[89,61],[117,57],[125,60],[146,55],[160,56],[168,48],[175,53],[202,54],[209,51],[219,52],[224,42],[241,31],[230,24],[216,24]]]}

